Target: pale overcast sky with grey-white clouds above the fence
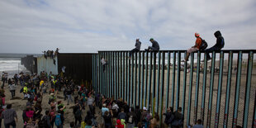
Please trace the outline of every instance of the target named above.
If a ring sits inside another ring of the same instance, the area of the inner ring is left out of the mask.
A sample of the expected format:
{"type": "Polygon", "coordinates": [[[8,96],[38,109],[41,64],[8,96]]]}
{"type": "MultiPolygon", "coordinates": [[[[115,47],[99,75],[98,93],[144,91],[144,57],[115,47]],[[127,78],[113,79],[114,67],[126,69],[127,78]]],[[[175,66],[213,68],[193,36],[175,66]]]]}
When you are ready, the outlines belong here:
{"type": "Polygon", "coordinates": [[[186,50],[195,32],[225,50],[256,49],[255,0],[0,0],[0,53],[186,50]]]}

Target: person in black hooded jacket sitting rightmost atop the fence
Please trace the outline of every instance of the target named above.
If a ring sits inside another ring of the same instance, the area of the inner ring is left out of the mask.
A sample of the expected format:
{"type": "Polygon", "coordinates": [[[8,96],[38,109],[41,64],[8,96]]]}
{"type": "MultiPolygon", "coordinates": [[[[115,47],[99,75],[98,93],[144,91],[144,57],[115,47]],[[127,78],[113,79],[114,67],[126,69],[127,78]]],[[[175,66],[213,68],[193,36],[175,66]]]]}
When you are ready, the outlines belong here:
{"type": "Polygon", "coordinates": [[[211,48],[207,49],[206,50],[206,56],[207,56],[207,60],[210,60],[211,59],[211,56],[209,55],[210,52],[212,51],[218,51],[218,50],[221,50],[224,45],[225,45],[225,41],[224,41],[224,38],[221,36],[221,33],[220,31],[216,31],[214,33],[214,36],[216,36],[216,45],[212,46],[211,48]]]}

